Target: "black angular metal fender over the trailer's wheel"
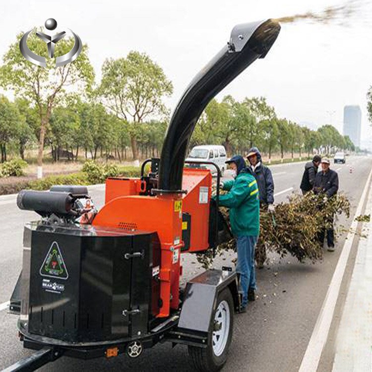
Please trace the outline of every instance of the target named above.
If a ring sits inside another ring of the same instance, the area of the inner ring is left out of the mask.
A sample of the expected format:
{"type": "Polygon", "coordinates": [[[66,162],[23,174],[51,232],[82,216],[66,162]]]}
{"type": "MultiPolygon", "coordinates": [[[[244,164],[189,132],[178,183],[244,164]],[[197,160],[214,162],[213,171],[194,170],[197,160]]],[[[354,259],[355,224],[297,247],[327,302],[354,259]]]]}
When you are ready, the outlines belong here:
{"type": "Polygon", "coordinates": [[[186,284],[179,328],[208,332],[218,294],[229,287],[235,309],[239,308],[238,277],[235,271],[207,270],[186,284]]]}

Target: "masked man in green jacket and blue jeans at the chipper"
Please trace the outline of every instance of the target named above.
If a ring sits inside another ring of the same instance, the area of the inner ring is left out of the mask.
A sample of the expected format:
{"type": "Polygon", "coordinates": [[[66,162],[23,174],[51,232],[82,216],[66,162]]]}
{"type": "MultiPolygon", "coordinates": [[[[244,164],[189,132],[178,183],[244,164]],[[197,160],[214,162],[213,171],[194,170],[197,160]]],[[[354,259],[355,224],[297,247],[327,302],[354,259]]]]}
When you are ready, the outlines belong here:
{"type": "Polygon", "coordinates": [[[246,162],[242,156],[233,156],[226,163],[234,171],[234,180],[226,181],[220,195],[219,204],[230,208],[231,230],[237,240],[238,264],[240,274],[240,291],[242,307],[247,311],[248,301],[254,301],[256,276],[254,271],[254,248],[259,235],[259,199],[257,181],[247,172],[246,162]]]}

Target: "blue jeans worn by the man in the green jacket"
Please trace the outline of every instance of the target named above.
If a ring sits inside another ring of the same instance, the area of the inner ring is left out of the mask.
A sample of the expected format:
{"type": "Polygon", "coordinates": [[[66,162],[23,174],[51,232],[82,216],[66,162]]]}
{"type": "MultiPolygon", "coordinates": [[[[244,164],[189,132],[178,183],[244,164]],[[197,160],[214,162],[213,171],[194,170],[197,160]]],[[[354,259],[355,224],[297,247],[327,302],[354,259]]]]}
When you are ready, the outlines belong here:
{"type": "Polygon", "coordinates": [[[240,274],[240,292],[243,295],[242,306],[248,303],[248,288],[257,289],[256,273],[254,269],[254,248],[258,237],[243,236],[237,238],[238,265],[240,274]]]}

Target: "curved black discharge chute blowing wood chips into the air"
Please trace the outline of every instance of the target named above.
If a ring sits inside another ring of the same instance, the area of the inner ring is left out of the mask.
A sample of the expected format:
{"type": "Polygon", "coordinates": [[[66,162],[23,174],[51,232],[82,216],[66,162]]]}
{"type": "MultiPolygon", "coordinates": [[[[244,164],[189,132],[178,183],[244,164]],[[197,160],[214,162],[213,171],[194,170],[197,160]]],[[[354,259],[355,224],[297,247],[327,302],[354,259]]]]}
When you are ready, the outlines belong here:
{"type": "Polygon", "coordinates": [[[188,142],[204,108],[249,64],[266,56],[279,31],[279,23],[271,19],[235,26],[230,42],[194,77],[176,106],[165,135],[157,191],[181,191],[188,142]]]}

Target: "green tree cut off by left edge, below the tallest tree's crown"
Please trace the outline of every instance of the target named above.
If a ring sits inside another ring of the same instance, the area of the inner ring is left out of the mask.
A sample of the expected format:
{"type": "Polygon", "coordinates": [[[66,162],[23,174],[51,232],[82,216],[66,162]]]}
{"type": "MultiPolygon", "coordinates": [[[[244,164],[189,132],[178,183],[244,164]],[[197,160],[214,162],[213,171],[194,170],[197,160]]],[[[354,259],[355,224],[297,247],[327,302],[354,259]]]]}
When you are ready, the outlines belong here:
{"type": "Polygon", "coordinates": [[[0,96],[0,149],[1,163],[6,161],[6,144],[13,138],[16,138],[19,131],[21,121],[24,118],[19,114],[17,106],[9,102],[9,100],[0,96]]]}

